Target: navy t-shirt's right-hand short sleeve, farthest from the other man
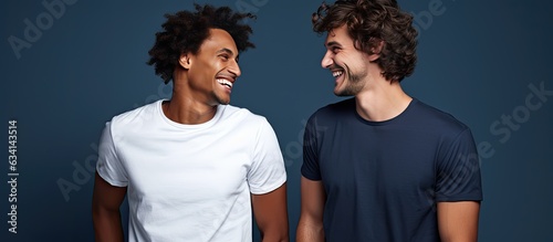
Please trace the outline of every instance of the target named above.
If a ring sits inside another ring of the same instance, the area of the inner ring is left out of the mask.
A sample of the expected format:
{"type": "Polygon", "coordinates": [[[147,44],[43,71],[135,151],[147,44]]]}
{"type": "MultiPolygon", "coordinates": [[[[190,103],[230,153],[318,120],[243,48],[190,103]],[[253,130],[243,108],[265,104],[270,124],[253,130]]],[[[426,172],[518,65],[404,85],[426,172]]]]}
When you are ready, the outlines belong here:
{"type": "Polygon", "coordinates": [[[468,128],[442,152],[437,172],[438,202],[482,200],[480,161],[468,128]]]}

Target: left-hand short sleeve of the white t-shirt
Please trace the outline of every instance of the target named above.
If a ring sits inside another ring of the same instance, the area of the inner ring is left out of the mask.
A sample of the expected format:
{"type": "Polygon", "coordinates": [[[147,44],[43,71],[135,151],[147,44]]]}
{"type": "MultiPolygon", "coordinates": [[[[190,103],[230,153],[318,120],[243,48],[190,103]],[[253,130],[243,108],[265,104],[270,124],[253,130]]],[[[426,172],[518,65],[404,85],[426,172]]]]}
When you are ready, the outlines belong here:
{"type": "Polygon", "coordinates": [[[126,187],[128,178],[122,161],[117,157],[112,136],[112,123],[106,123],[100,139],[98,161],[96,171],[108,183],[115,187],[126,187]]]}

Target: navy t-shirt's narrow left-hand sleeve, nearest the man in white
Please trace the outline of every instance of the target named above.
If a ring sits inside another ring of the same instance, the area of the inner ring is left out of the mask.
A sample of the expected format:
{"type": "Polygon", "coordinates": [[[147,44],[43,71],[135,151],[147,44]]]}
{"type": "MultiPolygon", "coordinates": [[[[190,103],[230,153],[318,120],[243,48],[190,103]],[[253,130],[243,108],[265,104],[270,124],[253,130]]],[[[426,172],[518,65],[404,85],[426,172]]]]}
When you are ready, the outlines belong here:
{"type": "Polygon", "coordinates": [[[310,180],[321,180],[321,170],[319,167],[317,152],[317,130],[314,116],[305,125],[303,134],[303,164],[301,168],[302,176],[310,180]]]}

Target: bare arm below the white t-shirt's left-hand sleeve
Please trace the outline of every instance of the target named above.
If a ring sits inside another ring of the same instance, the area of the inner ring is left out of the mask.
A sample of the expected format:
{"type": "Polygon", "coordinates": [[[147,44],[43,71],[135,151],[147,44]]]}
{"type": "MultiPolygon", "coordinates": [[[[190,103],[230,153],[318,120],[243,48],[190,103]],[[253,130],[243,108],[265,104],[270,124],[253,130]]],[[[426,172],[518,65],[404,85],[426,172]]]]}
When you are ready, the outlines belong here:
{"type": "Polygon", "coordinates": [[[126,187],[114,187],[96,172],[92,196],[92,220],[97,242],[124,240],[119,207],[126,192],[126,187]]]}

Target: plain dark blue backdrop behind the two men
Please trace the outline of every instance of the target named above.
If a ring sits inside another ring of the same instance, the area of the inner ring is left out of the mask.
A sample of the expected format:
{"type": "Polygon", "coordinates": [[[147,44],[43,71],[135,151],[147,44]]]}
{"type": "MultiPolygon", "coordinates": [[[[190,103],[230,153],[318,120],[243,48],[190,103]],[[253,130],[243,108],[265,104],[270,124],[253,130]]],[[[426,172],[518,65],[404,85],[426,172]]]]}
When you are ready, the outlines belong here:
{"type": "MultiPolygon", "coordinates": [[[[61,0],[46,0],[55,1],[61,0]]],[[[164,87],[145,64],[147,51],[164,13],[192,7],[176,0],[66,1],[59,18],[42,1],[0,3],[2,139],[8,139],[8,120],[17,119],[20,173],[18,233],[12,234],[4,141],[0,241],[93,241],[92,167],[101,130],[116,114],[168,97],[170,86],[164,87]],[[41,35],[25,38],[25,19],[41,35]],[[19,59],[9,41],[13,38],[30,45],[19,51],[19,59]],[[74,190],[64,197],[59,182],[74,190]]],[[[209,2],[258,15],[251,22],[258,48],[242,54],[243,75],[232,104],[267,116],[276,131],[286,160],[294,238],[304,122],[317,107],[340,99],[332,94],[331,74],[320,67],[323,36],[311,31],[311,13],[321,1],[209,2]]],[[[480,154],[480,241],[553,241],[553,95],[533,97],[531,104],[539,108],[526,104],[533,95],[530,86],[553,91],[553,3],[399,3],[417,17],[420,29],[418,65],[403,82],[405,90],[452,114],[471,127],[477,144],[491,147],[480,154]],[[517,118],[515,126],[502,124],[503,115],[517,118]]]]}

